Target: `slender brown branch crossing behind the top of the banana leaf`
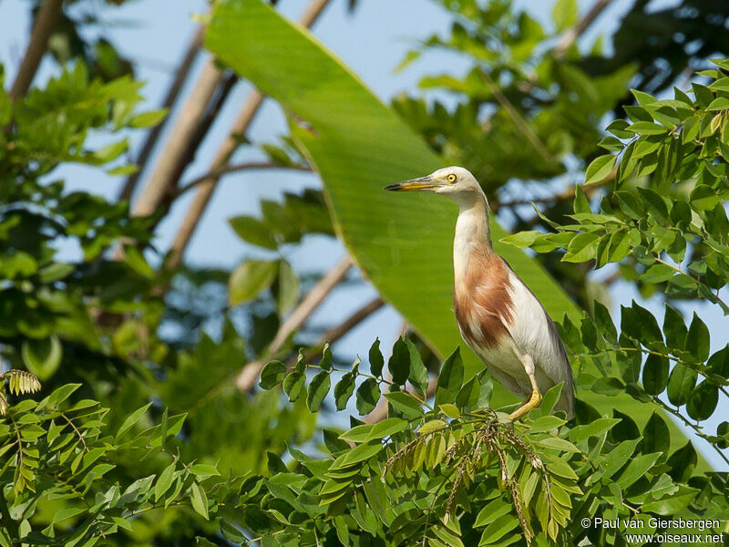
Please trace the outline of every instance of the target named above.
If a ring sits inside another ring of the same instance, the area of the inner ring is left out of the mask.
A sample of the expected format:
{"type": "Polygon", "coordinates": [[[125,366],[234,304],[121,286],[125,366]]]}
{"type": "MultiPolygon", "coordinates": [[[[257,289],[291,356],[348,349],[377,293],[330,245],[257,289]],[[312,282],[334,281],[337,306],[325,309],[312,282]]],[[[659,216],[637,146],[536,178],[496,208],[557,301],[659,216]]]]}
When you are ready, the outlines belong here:
{"type": "MultiPolygon", "coordinates": [[[[312,26],[328,3],[329,0],[313,0],[313,2],[306,8],[306,11],[304,11],[299,22],[303,26],[312,26]]],[[[221,170],[221,168],[231,159],[232,153],[238,148],[239,135],[245,134],[251,126],[256,113],[259,108],[261,108],[262,102],[263,94],[261,91],[258,91],[257,89],[253,90],[245,103],[243,103],[241,112],[235,120],[228,138],[222,143],[221,148],[212,160],[209,170],[211,173],[221,170]]],[[[205,209],[210,202],[210,198],[212,197],[212,193],[217,188],[218,181],[220,181],[220,177],[213,176],[205,181],[200,181],[197,184],[198,190],[190,203],[190,208],[185,214],[185,218],[180,224],[180,229],[177,232],[175,240],[169,251],[169,257],[167,260],[167,267],[169,269],[176,269],[182,262],[182,256],[190,244],[192,233],[195,232],[198,222],[200,222],[200,218],[202,218],[202,213],[205,212],[205,209]]]]}

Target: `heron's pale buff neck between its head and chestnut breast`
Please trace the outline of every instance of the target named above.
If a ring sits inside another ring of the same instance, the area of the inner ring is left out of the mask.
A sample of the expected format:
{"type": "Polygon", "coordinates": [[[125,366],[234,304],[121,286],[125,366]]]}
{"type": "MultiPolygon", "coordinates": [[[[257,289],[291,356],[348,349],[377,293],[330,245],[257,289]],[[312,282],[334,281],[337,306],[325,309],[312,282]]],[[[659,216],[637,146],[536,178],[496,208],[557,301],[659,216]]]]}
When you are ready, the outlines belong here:
{"type": "Polygon", "coordinates": [[[488,201],[484,192],[479,188],[477,191],[458,195],[456,202],[460,212],[453,241],[453,267],[458,283],[466,275],[471,257],[478,255],[486,258],[494,250],[488,228],[488,201]]]}

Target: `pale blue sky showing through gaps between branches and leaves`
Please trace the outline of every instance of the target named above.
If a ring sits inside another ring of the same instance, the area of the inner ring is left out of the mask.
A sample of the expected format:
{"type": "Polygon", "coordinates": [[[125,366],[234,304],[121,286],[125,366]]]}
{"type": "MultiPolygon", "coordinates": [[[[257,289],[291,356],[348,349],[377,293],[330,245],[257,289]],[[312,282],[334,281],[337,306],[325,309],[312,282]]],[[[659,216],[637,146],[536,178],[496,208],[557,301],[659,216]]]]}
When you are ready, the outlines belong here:
{"type": "MultiPolygon", "coordinates": [[[[580,11],[586,12],[592,1],[580,0],[580,11]]],[[[654,0],[652,6],[675,3],[674,0],[654,0]]],[[[137,62],[137,76],[147,82],[143,89],[147,98],[145,108],[156,108],[167,89],[173,68],[197,26],[193,15],[204,14],[207,11],[207,2],[133,0],[120,8],[105,6],[101,0],[87,0],[82,4],[91,6],[90,9],[98,9],[107,23],[103,32],[110,36],[124,56],[137,62]]],[[[308,0],[281,0],[279,9],[283,14],[296,18],[307,4],[308,0]]],[[[543,1],[515,1],[515,5],[528,10],[546,25],[550,25],[552,4],[543,1]]],[[[12,81],[26,46],[29,5],[27,0],[0,0],[0,59],[5,64],[7,82],[12,81]]],[[[590,46],[596,36],[610,36],[619,25],[621,15],[631,5],[632,0],[613,0],[598,22],[583,36],[581,44],[590,46]]],[[[389,102],[390,98],[403,90],[414,90],[417,81],[426,74],[448,71],[458,73],[465,69],[463,63],[447,54],[429,54],[406,70],[394,72],[406,51],[418,39],[447,30],[450,20],[436,2],[361,0],[354,15],[349,15],[345,6],[344,0],[333,0],[315,26],[314,33],[385,102],[389,102]]],[[[606,40],[606,43],[610,46],[610,40],[606,40]]],[[[190,90],[206,55],[201,54],[198,57],[194,77],[190,78],[185,92],[190,90]]],[[[53,63],[46,60],[36,82],[43,81],[55,70],[53,63]]],[[[244,83],[233,90],[184,180],[191,180],[208,170],[212,156],[227,135],[241,101],[249,91],[250,87],[244,83]]],[[[173,111],[172,116],[174,115],[173,111]]],[[[266,102],[250,131],[252,140],[272,141],[283,133],[285,124],[281,112],[271,101],[266,102]]],[[[132,150],[137,150],[140,137],[141,134],[132,136],[132,150]]],[[[257,155],[254,151],[246,151],[239,153],[235,160],[255,158],[257,155]]],[[[84,167],[64,167],[58,174],[67,179],[70,189],[94,191],[109,198],[116,196],[121,183],[119,178],[108,177],[99,174],[98,170],[84,167]]],[[[318,187],[319,181],[314,175],[307,173],[262,171],[229,175],[219,186],[190,244],[187,254],[190,263],[233,267],[244,257],[260,253],[242,243],[232,232],[226,219],[239,214],[255,215],[259,212],[258,203],[261,199],[278,199],[282,191],[300,191],[306,186],[318,187]]],[[[169,217],[160,225],[156,242],[159,249],[164,250],[169,245],[190,197],[180,199],[169,217]]],[[[302,247],[293,250],[288,258],[298,272],[305,273],[327,269],[343,254],[344,250],[339,243],[312,238],[302,247]]],[[[344,319],[374,296],[374,289],[367,286],[338,290],[313,316],[313,323],[323,324],[344,319]]],[[[639,299],[629,284],[616,284],[611,290],[611,297],[614,312],[618,312],[620,304],[630,304],[631,299],[639,299]]],[[[660,299],[653,298],[642,304],[662,317],[660,299]]],[[[724,346],[727,342],[726,333],[729,332],[727,319],[714,306],[683,306],[683,311],[689,315],[694,309],[711,327],[713,350],[724,346]]],[[[389,347],[399,333],[401,322],[400,316],[394,310],[384,309],[365,321],[352,335],[346,336],[337,345],[337,350],[352,355],[357,352],[364,353],[375,336],[383,340],[383,347],[389,347]]],[[[720,415],[722,410],[724,414],[729,410],[729,401],[723,398],[721,404],[723,408],[717,410],[715,416],[720,415]]],[[[710,427],[715,427],[719,421],[719,418],[715,418],[710,427]]],[[[710,432],[713,430],[710,429],[710,432]]],[[[697,446],[701,449],[702,442],[698,442],[697,446]]],[[[714,466],[721,466],[718,456],[709,450],[703,452],[714,466]]]]}

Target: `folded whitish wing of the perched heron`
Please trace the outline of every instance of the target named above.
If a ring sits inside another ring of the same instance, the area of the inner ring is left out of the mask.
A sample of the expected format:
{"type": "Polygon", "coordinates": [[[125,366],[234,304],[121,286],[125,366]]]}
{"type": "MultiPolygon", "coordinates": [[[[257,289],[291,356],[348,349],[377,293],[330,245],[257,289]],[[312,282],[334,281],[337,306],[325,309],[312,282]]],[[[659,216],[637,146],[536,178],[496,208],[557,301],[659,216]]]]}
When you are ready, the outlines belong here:
{"type": "Polygon", "coordinates": [[[537,296],[508,268],[509,293],[513,303],[510,321],[505,321],[509,335],[521,351],[528,353],[555,384],[564,382],[558,409],[571,417],[574,408],[574,377],[557,326],[537,296]]]}

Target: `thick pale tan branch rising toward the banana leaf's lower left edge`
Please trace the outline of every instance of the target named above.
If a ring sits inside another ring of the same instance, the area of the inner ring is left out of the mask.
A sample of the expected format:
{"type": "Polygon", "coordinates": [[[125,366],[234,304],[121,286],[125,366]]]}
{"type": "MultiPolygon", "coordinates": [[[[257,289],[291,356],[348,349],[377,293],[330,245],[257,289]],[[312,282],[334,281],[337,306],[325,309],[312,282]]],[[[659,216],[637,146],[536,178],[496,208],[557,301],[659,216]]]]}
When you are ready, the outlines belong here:
{"type": "MultiPolygon", "coordinates": [[[[265,356],[273,356],[281,351],[283,345],[294,332],[313,314],[314,310],[322,304],[323,299],[332,292],[334,287],[344,279],[344,276],[352,267],[352,259],[347,255],[339,263],[334,265],[329,272],[324,274],[319,283],[315,284],[309,294],[297,305],[291,315],[279,326],[279,330],[268,346],[265,356]]],[[[248,392],[255,386],[256,379],[261,373],[264,360],[252,361],[243,366],[241,372],[235,378],[235,385],[241,392],[248,392]]]]}

